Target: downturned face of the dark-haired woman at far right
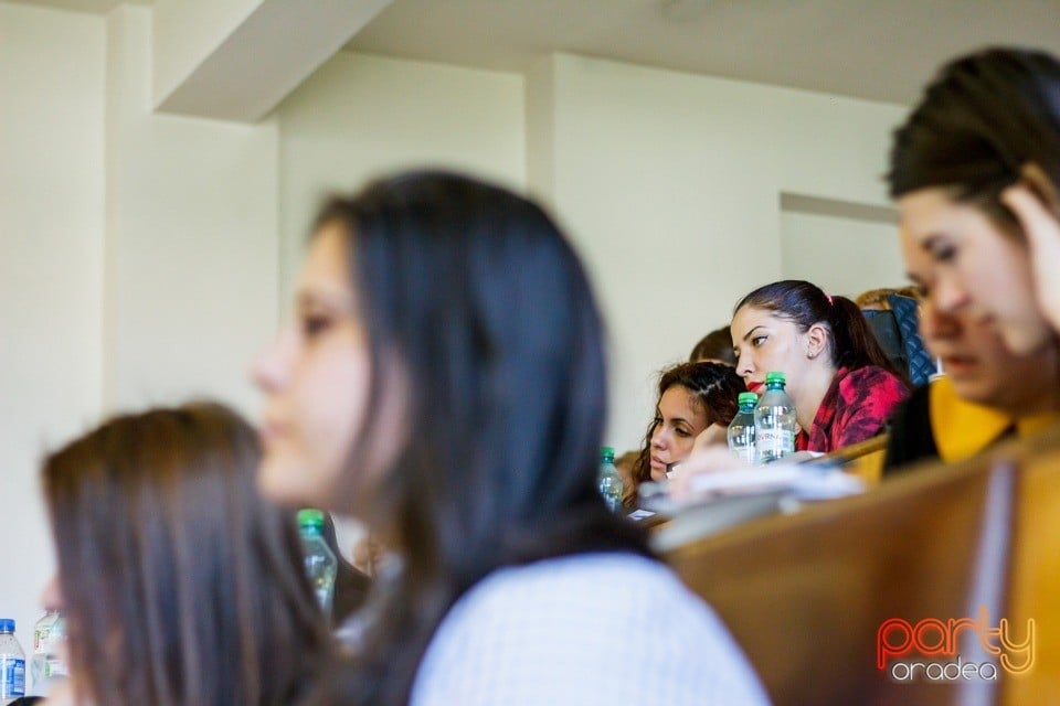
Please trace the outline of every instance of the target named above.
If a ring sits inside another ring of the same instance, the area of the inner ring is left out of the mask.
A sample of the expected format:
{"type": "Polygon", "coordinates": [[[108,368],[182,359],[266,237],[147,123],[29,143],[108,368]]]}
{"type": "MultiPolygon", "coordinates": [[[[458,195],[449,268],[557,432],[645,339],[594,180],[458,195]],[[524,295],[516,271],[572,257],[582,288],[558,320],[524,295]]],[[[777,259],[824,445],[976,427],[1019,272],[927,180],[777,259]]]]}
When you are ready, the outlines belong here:
{"type": "Polygon", "coordinates": [[[1019,238],[941,188],[909,193],[898,200],[898,208],[907,267],[926,255],[929,265],[910,274],[936,311],[993,321],[1017,355],[1048,343],[1051,329],[1035,301],[1030,259],[1019,238]]]}

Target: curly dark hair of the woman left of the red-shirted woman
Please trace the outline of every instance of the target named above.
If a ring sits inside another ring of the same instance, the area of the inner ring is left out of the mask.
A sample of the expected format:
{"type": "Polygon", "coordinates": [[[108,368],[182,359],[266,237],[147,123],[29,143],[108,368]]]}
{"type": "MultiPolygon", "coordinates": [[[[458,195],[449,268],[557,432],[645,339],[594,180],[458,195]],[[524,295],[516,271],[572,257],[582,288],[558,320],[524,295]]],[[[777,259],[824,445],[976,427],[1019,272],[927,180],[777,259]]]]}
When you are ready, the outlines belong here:
{"type": "MultiPolygon", "coordinates": [[[[729,350],[732,350],[731,339],[729,350]]],[[[736,375],[735,368],[731,365],[724,363],[679,363],[659,374],[659,396],[655,403],[656,408],[658,408],[664,393],[674,385],[683,387],[695,396],[700,409],[707,415],[707,426],[712,424],[729,426],[732,418],[740,411],[738,402],[740,393],[748,392],[743,378],[736,375]]],[[[644,435],[644,443],[640,446],[640,452],[633,464],[634,485],[626,489],[623,498],[623,503],[627,506],[634,504],[637,486],[651,480],[651,437],[658,426],[658,418],[654,418],[644,435]]]]}

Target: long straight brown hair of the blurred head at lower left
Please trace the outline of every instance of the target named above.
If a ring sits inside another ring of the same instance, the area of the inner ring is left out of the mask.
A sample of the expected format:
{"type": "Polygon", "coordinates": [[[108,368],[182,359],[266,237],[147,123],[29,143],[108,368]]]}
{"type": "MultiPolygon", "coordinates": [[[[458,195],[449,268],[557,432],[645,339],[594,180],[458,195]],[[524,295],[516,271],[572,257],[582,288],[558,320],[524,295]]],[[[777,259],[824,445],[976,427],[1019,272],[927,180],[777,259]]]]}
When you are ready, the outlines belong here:
{"type": "Polygon", "coordinates": [[[117,417],[43,466],[72,667],[96,704],[277,706],[328,659],[257,435],[193,404],[117,417]]]}

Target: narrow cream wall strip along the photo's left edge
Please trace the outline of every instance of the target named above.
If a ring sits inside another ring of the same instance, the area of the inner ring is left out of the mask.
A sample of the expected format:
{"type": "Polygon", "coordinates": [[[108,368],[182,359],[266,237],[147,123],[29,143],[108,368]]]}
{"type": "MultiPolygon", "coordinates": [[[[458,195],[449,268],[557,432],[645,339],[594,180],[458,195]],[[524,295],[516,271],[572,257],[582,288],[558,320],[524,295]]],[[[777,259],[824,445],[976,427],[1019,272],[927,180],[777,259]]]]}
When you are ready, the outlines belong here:
{"type": "Polygon", "coordinates": [[[104,43],[100,18],[0,3],[0,616],[23,648],[52,564],[38,462],[102,404],[104,43]]]}

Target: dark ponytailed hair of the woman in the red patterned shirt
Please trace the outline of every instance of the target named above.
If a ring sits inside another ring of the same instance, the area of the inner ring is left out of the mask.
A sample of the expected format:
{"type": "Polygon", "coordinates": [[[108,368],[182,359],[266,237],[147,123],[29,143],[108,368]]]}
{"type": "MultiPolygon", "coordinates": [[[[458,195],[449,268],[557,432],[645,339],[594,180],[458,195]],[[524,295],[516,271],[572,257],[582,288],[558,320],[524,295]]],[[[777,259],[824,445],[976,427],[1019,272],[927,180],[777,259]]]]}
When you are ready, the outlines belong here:
{"type": "Polygon", "coordinates": [[[826,295],[817,285],[802,279],[785,279],[759,287],[745,296],[733,309],[733,314],[744,307],[771,311],[793,322],[801,331],[823,323],[830,334],[828,355],[837,368],[876,365],[909,385],[905,373],[894,367],[880,347],[865,314],[846,297],[826,295]]]}

